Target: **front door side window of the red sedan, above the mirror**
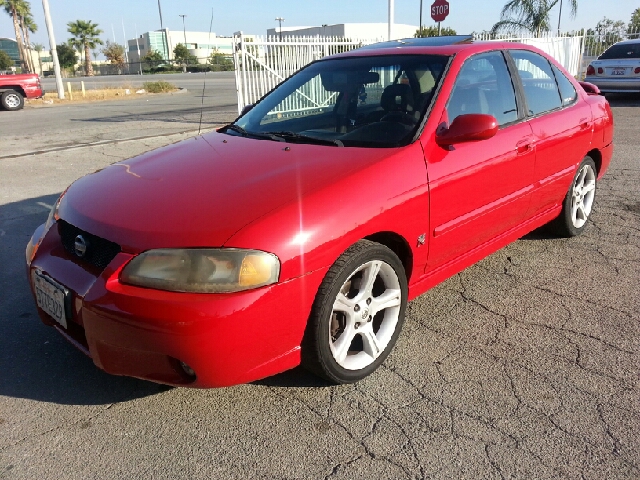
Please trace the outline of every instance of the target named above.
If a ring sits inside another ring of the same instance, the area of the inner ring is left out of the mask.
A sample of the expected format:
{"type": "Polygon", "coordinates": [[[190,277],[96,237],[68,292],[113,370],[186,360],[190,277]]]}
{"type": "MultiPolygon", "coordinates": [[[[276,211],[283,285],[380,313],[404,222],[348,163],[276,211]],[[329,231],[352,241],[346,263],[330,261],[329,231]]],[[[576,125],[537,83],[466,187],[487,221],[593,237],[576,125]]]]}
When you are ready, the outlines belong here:
{"type": "Polygon", "coordinates": [[[493,115],[500,126],[518,119],[515,89],[500,52],[476,55],[462,65],[447,113],[450,122],[467,113],[493,115]]]}

